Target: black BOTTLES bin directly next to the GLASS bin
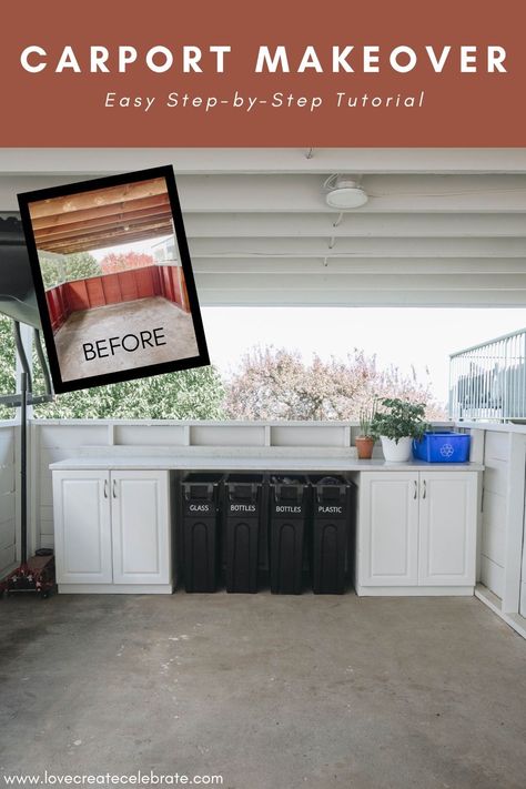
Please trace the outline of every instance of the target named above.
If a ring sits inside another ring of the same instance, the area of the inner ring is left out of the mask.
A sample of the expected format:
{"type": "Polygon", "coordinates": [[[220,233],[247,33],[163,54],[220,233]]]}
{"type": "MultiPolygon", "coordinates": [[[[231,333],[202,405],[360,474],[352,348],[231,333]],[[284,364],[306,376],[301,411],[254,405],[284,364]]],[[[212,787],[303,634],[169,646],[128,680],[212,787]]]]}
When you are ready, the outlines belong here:
{"type": "Polygon", "coordinates": [[[257,591],[263,476],[229,474],[225,479],[226,591],[257,591]]]}

